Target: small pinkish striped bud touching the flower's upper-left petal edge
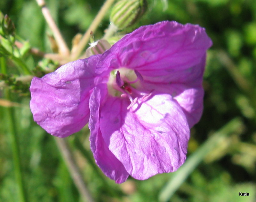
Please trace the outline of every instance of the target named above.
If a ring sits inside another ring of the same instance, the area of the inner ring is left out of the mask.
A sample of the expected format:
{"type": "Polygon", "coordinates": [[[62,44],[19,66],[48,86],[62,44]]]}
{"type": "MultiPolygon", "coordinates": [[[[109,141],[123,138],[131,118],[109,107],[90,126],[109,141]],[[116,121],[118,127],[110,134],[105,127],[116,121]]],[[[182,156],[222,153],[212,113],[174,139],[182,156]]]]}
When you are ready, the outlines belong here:
{"type": "Polygon", "coordinates": [[[90,43],[90,47],[86,50],[86,57],[92,55],[98,55],[104,53],[106,50],[110,49],[111,45],[105,39],[100,39],[99,41],[90,43]]]}

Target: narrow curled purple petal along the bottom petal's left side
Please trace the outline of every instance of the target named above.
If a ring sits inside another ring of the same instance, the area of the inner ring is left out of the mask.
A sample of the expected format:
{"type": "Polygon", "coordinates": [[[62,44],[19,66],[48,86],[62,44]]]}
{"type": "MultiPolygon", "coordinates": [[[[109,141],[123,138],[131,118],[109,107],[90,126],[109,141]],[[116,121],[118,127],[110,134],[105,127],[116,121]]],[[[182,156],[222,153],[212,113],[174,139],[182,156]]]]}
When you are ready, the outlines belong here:
{"type": "Polygon", "coordinates": [[[91,110],[89,120],[89,128],[91,130],[91,149],[96,164],[101,168],[103,173],[109,178],[115,180],[116,183],[123,183],[126,181],[129,174],[126,172],[123,164],[114,156],[113,153],[109,151],[108,145],[106,145],[106,142],[102,138],[99,127],[100,103],[106,94],[107,86],[99,85],[94,88],[89,101],[91,110]]]}

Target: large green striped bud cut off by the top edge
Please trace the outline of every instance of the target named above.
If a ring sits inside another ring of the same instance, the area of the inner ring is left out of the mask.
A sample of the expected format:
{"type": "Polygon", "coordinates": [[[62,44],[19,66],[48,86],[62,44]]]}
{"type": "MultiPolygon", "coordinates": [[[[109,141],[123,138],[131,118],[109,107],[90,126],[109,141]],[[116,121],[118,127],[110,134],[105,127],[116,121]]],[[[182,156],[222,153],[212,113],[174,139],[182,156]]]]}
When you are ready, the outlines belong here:
{"type": "Polygon", "coordinates": [[[110,22],[118,29],[132,26],[147,9],[146,0],[120,0],[110,14],[110,22]]]}

